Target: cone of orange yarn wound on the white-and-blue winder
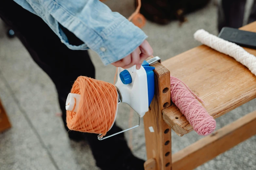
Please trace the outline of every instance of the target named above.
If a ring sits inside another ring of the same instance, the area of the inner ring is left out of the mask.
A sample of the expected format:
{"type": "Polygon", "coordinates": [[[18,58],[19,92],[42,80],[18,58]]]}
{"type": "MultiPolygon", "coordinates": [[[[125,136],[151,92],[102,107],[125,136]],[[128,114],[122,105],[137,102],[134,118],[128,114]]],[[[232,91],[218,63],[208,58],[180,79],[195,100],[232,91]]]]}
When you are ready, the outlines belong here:
{"type": "Polygon", "coordinates": [[[110,130],[117,109],[117,90],[111,83],[80,76],[71,93],[80,94],[77,112],[67,110],[70,130],[103,134],[110,130]]]}

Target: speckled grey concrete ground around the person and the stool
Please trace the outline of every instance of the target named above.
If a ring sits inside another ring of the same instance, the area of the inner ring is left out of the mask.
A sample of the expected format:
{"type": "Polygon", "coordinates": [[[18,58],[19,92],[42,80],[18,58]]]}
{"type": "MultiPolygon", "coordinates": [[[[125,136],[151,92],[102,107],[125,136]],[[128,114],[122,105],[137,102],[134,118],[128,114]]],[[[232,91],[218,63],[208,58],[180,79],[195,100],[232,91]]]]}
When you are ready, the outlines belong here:
{"type": "MultiPolygon", "coordinates": [[[[128,17],[134,10],[133,1],[109,0],[113,10],[128,17]]],[[[217,35],[217,8],[210,3],[204,9],[188,15],[188,22],[179,26],[173,21],[166,26],[147,22],[143,30],[162,60],[200,45],[193,38],[197,29],[217,35]]],[[[86,142],[73,142],[64,131],[57,93],[50,78],[30,58],[18,38],[9,39],[7,28],[0,21],[0,98],[9,115],[12,128],[0,134],[0,170],[98,170],[86,142]]],[[[96,78],[113,82],[115,68],[104,66],[97,54],[90,51],[96,67],[96,78]],[[108,75],[106,76],[106,73],[108,75]],[[104,76],[103,76],[104,75],[104,76]]],[[[256,100],[217,119],[217,129],[256,110],[256,100]]],[[[119,107],[117,124],[128,127],[129,107],[119,107]]],[[[133,116],[133,123],[136,123],[133,116]]],[[[143,123],[125,133],[133,153],[146,159],[143,123]],[[132,136],[132,138],[130,138],[132,136]]],[[[179,137],[172,133],[172,151],[190,145],[201,136],[195,132],[179,137]]],[[[255,170],[256,136],[201,165],[197,170],[255,170]]]]}

